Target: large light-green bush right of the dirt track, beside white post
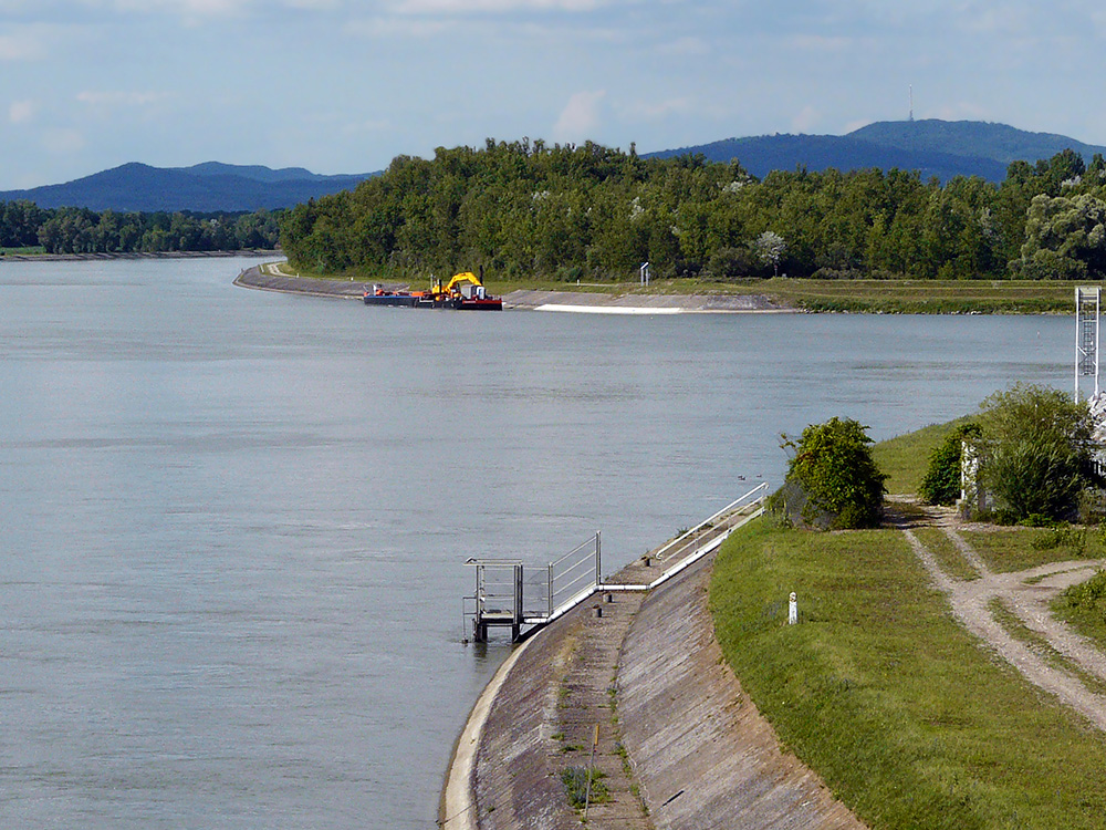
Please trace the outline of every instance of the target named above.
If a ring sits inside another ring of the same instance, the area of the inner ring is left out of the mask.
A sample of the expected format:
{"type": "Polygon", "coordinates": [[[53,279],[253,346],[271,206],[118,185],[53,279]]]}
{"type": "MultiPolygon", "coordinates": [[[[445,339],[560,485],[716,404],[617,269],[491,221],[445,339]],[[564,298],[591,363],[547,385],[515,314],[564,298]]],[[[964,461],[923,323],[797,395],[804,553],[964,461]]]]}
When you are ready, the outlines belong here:
{"type": "Polygon", "coordinates": [[[1018,384],[982,404],[979,483],[1013,521],[1074,518],[1083,491],[1100,485],[1086,403],[1018,384]]]}

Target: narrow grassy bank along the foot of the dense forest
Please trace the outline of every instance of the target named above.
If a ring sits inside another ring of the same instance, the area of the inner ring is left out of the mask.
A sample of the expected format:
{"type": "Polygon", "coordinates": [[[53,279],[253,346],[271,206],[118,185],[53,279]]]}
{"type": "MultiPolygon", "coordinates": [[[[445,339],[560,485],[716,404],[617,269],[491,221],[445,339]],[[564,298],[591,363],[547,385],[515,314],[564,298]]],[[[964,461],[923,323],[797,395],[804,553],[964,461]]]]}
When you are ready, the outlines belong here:
{"type": "MultiPolygon", "coordinates": [[[[348,279],[351,274],[300,271],[303,277],[348,279]]],[[[394,281],[384,277],[355,274],[358,280],[394,281]]],[[[413,286],[421,284],[418,280],[413,286]]],[[[426,281],[427,283],[429,280],[426,281]]],[[[1074,282],[1039,280],[810,280],[778,277],[720,282],[699,279],[625,281],[560,280],[528,277],[501,279],[487,276],[488,289],[505,294],[515,290],[584,291],[611,294],[763,294],[776,304],[805,311],[865,313],[952,314],[952,313],[1071,313],[1074,282]]],[[[1086,284],[1086,283],[1079,283],[1086,284]]]]}

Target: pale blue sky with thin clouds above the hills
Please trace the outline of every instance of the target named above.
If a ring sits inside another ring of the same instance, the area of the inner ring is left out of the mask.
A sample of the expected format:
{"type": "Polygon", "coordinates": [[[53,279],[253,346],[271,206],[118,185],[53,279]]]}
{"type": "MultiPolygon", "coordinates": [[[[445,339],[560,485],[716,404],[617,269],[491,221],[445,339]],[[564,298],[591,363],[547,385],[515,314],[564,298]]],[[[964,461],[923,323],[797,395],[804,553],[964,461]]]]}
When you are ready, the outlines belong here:
{"type": "Polygon", "coordinates": [[[369,173],[875,121],[1106,145],[1091,0],[0,0],[0,189],[143,162],[369,173]]]}

